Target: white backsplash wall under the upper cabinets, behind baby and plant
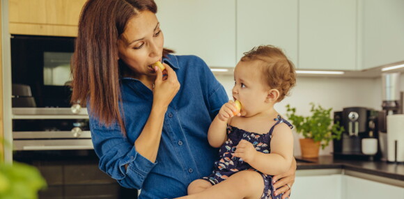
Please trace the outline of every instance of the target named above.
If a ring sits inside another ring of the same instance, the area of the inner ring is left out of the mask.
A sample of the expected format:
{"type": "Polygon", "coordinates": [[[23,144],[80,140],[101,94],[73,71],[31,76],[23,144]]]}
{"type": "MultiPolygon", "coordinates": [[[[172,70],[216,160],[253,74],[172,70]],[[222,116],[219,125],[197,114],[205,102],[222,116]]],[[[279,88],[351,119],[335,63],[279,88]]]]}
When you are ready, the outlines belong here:
{"type": "MultiPolygon", "coordinates": [[[[216,75],[232,99],[231,89],[234,85],[233,76],[216,75]]],[[[404,74],[401,75],[401,90],[404,90],[404,74]]],[[[286,104],[296,107],[297,113],[309,116],[310,102],[320,104],[333,111],[342,111],[343,107],[364,106],[375,110],[382,107],[381,78],[358,79],[342,77],[297,77],[297,84],[282,102],[275,106],[281,115],[286,114],[286,104]]],[[[295,155],[300,155],[299,135],[295,134],[295,155]]],[[[321,154],[330,154],[332,144],[321,154]]]]}

